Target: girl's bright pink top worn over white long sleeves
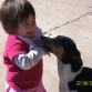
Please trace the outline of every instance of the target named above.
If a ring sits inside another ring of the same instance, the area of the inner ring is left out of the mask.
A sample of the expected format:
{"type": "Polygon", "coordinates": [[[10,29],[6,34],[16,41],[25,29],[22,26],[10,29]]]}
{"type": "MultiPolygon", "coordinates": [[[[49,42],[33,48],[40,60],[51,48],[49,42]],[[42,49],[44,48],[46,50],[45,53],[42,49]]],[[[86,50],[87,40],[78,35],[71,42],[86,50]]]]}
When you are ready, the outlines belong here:
{"type": "Polygon", "coordinates": [[[14,34],[8,35],[3,62],[7,65],[7,83],[13,89],[33,89],[42,81],[42,59],[29,70],[22,70],[14,63],[14,57],[29,53],[30,45],[14,34]]]}

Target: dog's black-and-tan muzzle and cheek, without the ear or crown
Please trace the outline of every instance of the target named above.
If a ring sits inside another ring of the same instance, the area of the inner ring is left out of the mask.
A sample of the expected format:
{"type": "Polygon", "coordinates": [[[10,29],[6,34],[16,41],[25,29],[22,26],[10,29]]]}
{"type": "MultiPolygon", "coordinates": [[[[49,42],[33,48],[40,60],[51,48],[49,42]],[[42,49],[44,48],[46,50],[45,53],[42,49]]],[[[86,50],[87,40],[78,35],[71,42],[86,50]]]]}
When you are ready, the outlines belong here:
{"type": "Polygon", "coordinates": [[[41,47],[44,48],[47,51],[53,53],[59,59],[62,58],[62,54],[64,52],[63,47],[60,45],[58,38],[48,38],[48,37],[41,37],[41,47]]]}

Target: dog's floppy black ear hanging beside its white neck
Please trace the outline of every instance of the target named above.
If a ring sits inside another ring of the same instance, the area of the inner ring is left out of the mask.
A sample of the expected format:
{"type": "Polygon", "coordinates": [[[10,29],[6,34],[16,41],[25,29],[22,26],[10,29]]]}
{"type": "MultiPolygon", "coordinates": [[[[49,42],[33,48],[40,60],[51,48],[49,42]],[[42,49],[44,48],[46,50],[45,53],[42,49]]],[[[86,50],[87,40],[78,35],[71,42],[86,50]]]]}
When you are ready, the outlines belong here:
{"type": "Polygon", "coordinates": [[[74,53],[71,57],[71,70],[72,72],[76,72],[81,69],[83,65],[81,53],[79,50],[74,51],[74,53]]]}

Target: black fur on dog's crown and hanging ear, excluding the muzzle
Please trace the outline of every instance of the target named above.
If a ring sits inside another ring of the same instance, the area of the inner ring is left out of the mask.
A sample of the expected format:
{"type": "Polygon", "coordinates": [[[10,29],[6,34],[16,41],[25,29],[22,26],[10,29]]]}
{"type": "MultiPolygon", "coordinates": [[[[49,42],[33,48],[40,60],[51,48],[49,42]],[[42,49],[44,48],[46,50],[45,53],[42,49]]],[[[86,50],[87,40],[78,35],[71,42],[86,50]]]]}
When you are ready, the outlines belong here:
{"type": "Polygon", "coordinates": [[[58,35],[57,41],[59,41],[60,45],[62,45],[65,50],[65,53],[63,54],[61,61],[64,64],[71,63],[72,72],[79,71],[83,63],[82,63],[81,54],[76,49],[74,41],[68,37],[61,37],[61,35],[58,35]]]}

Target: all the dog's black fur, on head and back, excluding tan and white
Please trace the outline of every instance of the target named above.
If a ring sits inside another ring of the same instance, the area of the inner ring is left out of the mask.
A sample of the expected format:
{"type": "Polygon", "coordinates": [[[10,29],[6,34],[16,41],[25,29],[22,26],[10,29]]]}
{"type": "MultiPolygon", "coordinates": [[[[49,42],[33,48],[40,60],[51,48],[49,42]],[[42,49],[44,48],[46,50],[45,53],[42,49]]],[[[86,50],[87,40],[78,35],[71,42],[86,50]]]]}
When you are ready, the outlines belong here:
{"type": "Polygon", "coordinates": [[[68,83],[70,90],[78,92],[92,92],[92,69],[82,67],[83,62],[81,59],[81,53],[76,49],[74,41],[63,35],[58,35],[57,38],[53,39],[42,37],[41,38],[42,47],[45,48],[48,51],[52,52],[53,51],[52,48],[47,44],[50,42],[52,42],[53,45],[55,45],[57,48],[58,47],[64,48],[64,54],[63,58],[61,59],[61,62],[63,64],[70,63],[72,72],[75,73],[82,68],[81,73],[78,74],[73,81],[70,81],[68,83]]]}

